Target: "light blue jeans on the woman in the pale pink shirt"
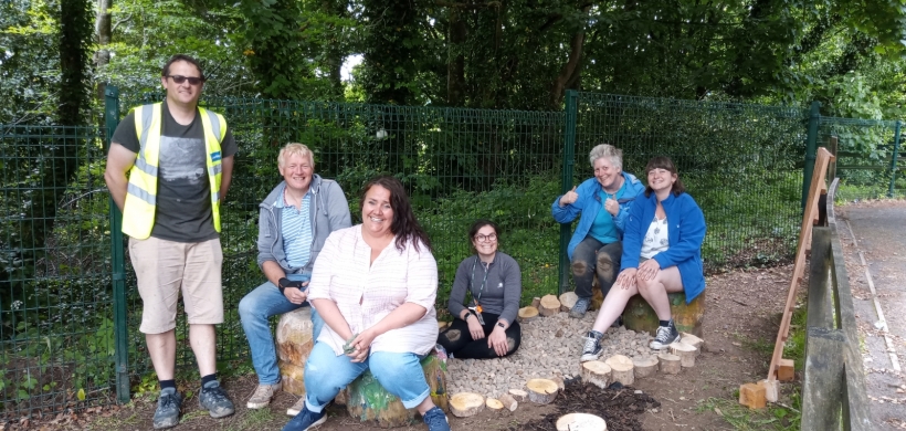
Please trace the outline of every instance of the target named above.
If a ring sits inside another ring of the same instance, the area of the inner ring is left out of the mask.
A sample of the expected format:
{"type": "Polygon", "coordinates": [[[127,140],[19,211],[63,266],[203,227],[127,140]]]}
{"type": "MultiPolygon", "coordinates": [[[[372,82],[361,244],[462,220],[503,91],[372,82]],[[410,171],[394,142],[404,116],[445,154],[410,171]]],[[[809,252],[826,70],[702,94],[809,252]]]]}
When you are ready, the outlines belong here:
{"type": "Polygon", "coordinates": [[[364,362],[337,356],[324,343],[316,343],[305,362],[305,408],[319,413],[340,390],[366,369],[388,392],[400,397],[403,407],[413,409],[431,395],[424,380],[421,358],[413,353],[375,351],[364,362]]]}

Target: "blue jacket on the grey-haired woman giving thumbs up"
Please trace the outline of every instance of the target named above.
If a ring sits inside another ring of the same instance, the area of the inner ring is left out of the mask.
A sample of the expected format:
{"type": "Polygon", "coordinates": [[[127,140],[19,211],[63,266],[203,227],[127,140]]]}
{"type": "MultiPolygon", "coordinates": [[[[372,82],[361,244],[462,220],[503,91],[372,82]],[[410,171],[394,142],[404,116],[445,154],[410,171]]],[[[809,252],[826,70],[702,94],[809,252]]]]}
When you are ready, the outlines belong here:
{"type": "MultiPolygon", "coordinates": [[[[617,227],[617,232],[621,236],[623,234],[623,225],[629,217],[630,204],[632,204],[636,196],[643,196],[642,193],[645,191],[645,186],[643,186],[642,181],[639,181],[634,175],[623,172],[623,179],[626,181],[626,189],[623,191],[623,197],[618,200],[620,203],[620,212],[613,216],[613,224],[617,227]]],[[[598,182],[597,178],[591,177],[576,188],[576,193],[579,195],[579,199],[577,199],[576,202],[560,207],[560,198],[562,198],[562,195],[560,195],[554,200],[554,204],[550,207],[550,214],[554,216],[554,220],[557,220],[558,223],[571,223],[576,220],[576,217],[580,213],[582,214],[579,219],[579,225],[576,227],[576,232],[572,232],[572,239],[569,240],[569,246],[567,246],[567,254],[570,261],[572,260],[572,252],[576,250],[576,246],[586,239],[586,235],[588,235],[588,232],[591,230],[591,224],[594,223],[598,211],[604,210],[604,203],[601,202],[601,197],[598,196],[598,190],[600,189],[601,183],[598,182]]]]}

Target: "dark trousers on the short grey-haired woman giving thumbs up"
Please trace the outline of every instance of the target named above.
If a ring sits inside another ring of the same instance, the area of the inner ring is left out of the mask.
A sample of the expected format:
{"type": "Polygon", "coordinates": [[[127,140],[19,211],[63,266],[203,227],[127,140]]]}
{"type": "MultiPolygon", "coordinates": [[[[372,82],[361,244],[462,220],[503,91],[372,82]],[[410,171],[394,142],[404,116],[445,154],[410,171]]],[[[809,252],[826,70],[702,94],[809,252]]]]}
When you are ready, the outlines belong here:
{"type": "Polygon", "coordinates": [[[623,243],[604,244],[591,235],[586,236],[572,251],[572,280],[576,281],[576,296],[591,297],[591,284],[598,276],[601,294],[608,296],[610,287],[620,275],[623,243]]]}

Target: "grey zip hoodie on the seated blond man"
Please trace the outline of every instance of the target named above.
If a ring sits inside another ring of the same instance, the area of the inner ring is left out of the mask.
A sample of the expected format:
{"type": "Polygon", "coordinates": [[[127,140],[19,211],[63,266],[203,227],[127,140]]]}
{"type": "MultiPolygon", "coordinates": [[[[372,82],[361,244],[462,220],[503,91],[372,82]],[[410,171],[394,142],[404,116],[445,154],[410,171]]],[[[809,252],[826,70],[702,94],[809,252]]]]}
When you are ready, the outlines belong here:
{"type": "Polygon", "coordinates": [[[283,232],[281,231],[282,212],[274,206],[283,199],[286,181],[281,181],[267,198],[259,206],[257,231],[257,265],[261,267],[266,261],[276,262],[287,274],[310,274],[315,260],[324,248],[324,241],[330,232],[352,225],[349,217],[349,202],[343,189],[334,180],[323,179],[319,175],[312,176],[310,220],[312,220],[312,255],[308,263],[302,269],[289,269],[286,262],[286,252],[283,250],[283,232]]]}

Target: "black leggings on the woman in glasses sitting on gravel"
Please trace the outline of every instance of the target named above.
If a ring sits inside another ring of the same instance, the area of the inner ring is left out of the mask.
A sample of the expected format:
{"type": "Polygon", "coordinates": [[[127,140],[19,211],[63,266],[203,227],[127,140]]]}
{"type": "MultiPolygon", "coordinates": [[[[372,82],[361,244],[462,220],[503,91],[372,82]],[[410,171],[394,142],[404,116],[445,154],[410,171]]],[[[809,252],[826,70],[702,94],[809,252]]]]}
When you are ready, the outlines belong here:
{"type": "MultiPolygon", "coordinates": [[[[453,324],[438,336],[438,344],[446,349],[447,354],[459,359],[489,359],[499,358],[494,348],[487,347],[487,337],[494,327],[497,325],[499,315],[491,313],[482,313],[484,318],[484,335],[485,337],[478,340],[472,339],[472,333],[468,332],[468,323],[456,317],[453,324]]],[[[472,318],[475,318],[474,316],[472,318]]],[[[506,355],[509,356],[519,348],[523,339],[523,332],[519,329],[519,323],[513,322],[506,328],[506,344],[509,347],[506,355]]]]}

